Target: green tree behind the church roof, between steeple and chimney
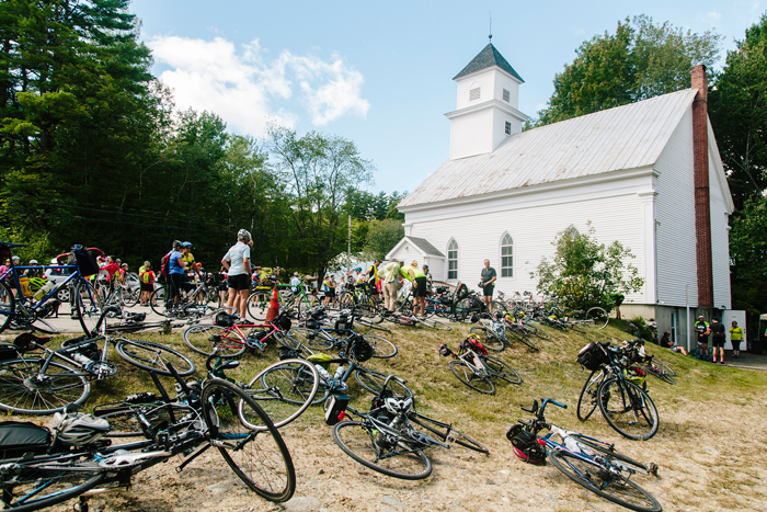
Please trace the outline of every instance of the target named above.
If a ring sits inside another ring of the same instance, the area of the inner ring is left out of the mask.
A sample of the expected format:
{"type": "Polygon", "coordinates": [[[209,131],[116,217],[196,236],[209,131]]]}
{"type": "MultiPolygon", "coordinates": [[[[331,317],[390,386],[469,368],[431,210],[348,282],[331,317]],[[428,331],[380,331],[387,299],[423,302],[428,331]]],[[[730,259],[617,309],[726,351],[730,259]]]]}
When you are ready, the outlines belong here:
{"type": "Polygon", "coordinates": [[[627,18],[615,34],[581,44],[573,62],[554,77],[549,105],[526,128],[688,88],[692,66],[712,66],[721,41],[717,33],[684,32],[644,14],[627,18]]]}

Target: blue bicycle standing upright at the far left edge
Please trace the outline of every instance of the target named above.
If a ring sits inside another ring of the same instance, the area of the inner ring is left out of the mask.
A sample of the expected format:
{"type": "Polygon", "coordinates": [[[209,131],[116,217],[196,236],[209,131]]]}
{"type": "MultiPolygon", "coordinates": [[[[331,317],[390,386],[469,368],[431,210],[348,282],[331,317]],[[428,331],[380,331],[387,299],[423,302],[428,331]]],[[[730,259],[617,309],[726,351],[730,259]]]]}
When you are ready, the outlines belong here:
{"type": "MultiPolygon", "coordinates": [[[[10,260],[11,249],[16,247],[25,246],[23,243],[0,242],[0,261],[10,260]]],[[[50,314],[54,305],[60,304],[56,298],[53,298],[59,288],[68,287],[72,316],[80,320],[85,335],[94,337],[98,334],[96,322],[102,308],[98,294],[85,277],[96,273],[99,268],[95,261],[90,261],[91,257],[83,248],[76,246],[72,252],[77,259],[75,265],[19,266],[13,265],[13,260],[11,260],[10,269],[0,275],[0,332],[11,328],[57,333],[58,330],[44,320],[44,317],[50,314]],[[44,287],[33,295],[24,271],[47,269],[68,270],[71,271],[71,274],[64,283],[51,286],[50,289],[44,287]]]]}

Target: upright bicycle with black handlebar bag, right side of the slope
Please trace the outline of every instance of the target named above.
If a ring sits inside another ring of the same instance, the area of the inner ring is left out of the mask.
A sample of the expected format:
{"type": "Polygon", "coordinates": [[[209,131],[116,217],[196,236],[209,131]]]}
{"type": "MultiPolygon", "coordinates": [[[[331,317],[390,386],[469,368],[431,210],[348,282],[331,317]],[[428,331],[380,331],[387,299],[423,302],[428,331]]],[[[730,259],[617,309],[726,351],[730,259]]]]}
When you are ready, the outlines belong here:
{"type": "Polygon", "coordinates": [[[646,441],[657,432],[660,418],[650,396],[632,382],[637,378],[643,384],[644,377],[629,375],[631,367],[626,355],[625,350],[610,346],[609,342],[589,343],[581,350],[579,362],[592,373],[577,399],[577,418],[586,421],[598,406],[616,432],[646,441]]]}

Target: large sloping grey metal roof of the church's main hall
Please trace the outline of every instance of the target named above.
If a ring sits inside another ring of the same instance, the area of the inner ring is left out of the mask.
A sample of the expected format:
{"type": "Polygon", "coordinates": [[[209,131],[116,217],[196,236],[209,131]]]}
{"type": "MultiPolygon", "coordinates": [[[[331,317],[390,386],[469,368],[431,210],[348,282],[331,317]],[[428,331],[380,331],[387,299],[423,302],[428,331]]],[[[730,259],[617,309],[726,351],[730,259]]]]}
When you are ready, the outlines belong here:
{"type": "Polygon", "coordinates": [[[513,135],[492,152],[447,160],[398,206],[652,166],[696,93],[686,89],[513,135]]]}

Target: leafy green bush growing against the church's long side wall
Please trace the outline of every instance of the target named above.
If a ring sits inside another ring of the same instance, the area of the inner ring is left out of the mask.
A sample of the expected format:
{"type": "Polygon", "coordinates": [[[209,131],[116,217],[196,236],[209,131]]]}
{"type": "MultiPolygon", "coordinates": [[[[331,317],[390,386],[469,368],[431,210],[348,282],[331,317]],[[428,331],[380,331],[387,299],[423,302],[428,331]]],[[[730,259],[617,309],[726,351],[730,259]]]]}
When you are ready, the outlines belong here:
{"type": "MultiPolygon", "coordinates": [[[[598,306],[609,311],[615,306],[610,295],[639,292],[644,280],[627,260],[636,258],[619,241],[599,243],[593,227],[586,234],[564,230],[552,242],[553,261],[543,258],[538,265],[538,293],[559,297],[570,310],[598,306]]],[[[536,276],[530,273],[530,277],[536,276]]]]}

